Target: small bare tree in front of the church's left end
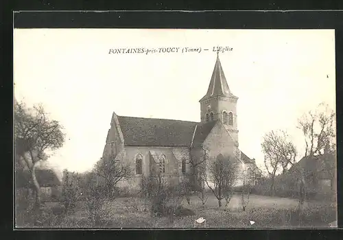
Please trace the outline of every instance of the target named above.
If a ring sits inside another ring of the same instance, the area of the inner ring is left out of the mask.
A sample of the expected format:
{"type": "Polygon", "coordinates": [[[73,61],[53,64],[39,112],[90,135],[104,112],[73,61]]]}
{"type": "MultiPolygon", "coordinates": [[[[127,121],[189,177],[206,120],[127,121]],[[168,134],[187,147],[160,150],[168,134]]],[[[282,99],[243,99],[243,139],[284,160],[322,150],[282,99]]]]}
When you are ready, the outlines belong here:
{"type": "Polygon", "coordinates": [[[130,178],[132,169],[130,165],[119,160],[101,158],[95,165],[95,174],[100,178],[100,182],[104,181],[107,197],[113,199],[119,181],[130,178]]]}

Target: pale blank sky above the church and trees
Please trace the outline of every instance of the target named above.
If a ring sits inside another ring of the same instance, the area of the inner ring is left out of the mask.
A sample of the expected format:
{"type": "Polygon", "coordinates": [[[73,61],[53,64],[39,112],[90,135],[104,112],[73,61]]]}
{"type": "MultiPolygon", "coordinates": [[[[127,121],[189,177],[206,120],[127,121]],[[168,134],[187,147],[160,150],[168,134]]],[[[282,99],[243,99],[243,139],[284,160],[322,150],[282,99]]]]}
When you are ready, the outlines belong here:
{"type": "Polygon", "coordinates": [[[262,163],[263,134],[283,129],[303,155],[298,117],[323,101],[335,109],[334,30],[15,29],[14,96],[42,103],[64,125],[64,147],[49,162],[87,171],[102,156],[113,111],[200,121],[217,46],[233,48],[220,60],[239,97],[241,150],[262,163]],[[180,50],[108,54],[121,47],[180,50]]]}

